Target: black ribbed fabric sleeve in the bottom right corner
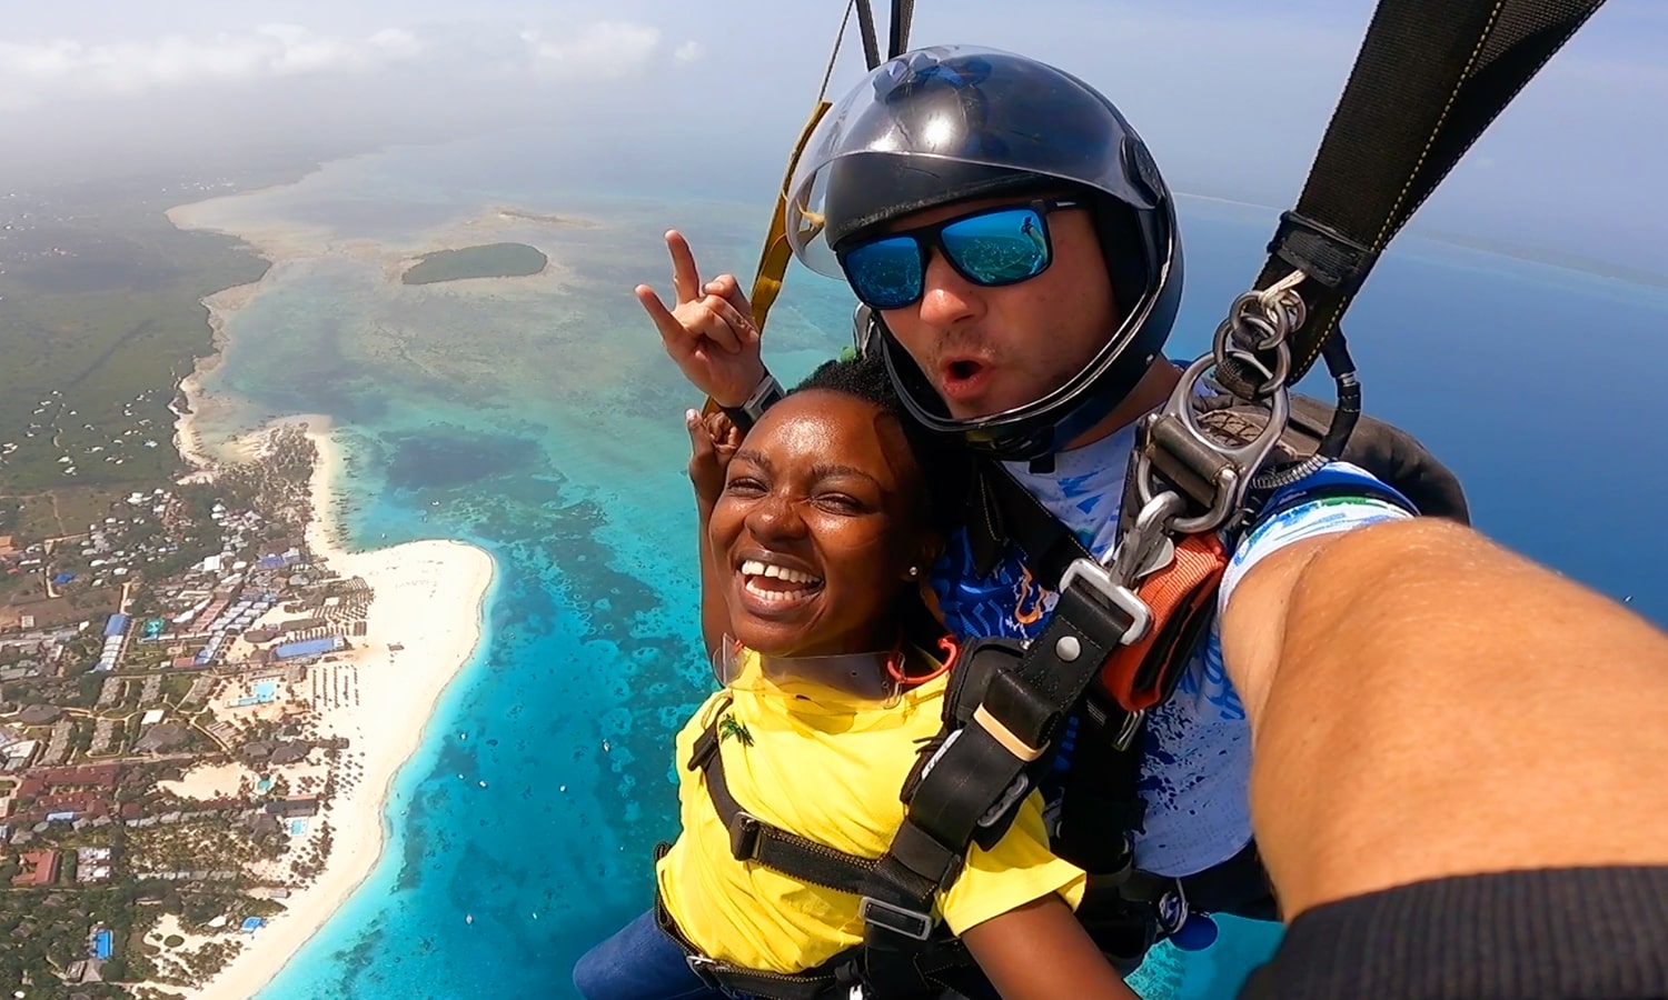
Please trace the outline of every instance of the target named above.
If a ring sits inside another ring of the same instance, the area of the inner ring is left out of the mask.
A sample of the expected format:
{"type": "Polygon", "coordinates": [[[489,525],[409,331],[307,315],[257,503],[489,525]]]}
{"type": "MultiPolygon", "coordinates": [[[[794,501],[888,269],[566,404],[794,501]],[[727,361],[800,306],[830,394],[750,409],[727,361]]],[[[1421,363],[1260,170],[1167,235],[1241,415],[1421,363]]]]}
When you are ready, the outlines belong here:
{"type": "Polygon", "coordinates": [[[1239,1000],[1668,997],[1668,867],[1466,875],[1298,917],[1239,1000]]]}

